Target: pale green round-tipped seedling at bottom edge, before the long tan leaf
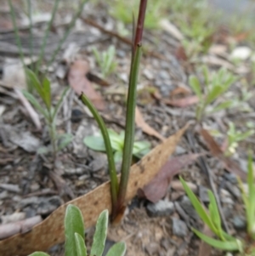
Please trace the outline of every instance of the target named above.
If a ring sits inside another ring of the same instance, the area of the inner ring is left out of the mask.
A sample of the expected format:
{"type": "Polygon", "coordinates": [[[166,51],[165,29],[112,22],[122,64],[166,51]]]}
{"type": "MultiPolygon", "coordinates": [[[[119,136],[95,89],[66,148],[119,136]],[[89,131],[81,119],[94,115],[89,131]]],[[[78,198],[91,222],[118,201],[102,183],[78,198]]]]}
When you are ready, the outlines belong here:
{"type": "MultiPolygon", "coordinates": [[[[101,256],[105,250],[105,239],[108,226],[108,210],[103,211],[97,220],[96,230],[90,253],[84,242],[84,223],[82,212],[69,204],[65,211],[65,256],[101,256]]],[[[106,256],[123,256],[126,252],[125,242],[117,242],[110,248],[106,256]]],[[[36,252],[29,256],[49,256],[48,253],[36,252]]]]}

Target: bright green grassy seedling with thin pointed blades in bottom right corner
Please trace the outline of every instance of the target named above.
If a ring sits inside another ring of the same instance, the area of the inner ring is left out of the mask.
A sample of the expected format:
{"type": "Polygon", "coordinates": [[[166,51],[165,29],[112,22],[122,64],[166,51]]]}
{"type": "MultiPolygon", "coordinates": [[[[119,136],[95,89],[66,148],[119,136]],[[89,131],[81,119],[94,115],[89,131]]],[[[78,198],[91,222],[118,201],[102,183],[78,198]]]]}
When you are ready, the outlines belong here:
{"type": "Polygon", "coordinates": [[[241,253],[241,255],[255,255],[255,177],[252,168],[252,156],[249,156],[248,160],[248,173],[247,173],[247,185],[248,191],[246,192],[244,189],[244,185],[239,180],[239,185],[241,188],[241,194],[243,198],[243,202],[246,208],[246,222],[247,222],[247,239],[245,241],[235,238],[234,236],[229,236],[229,234],[225,233],[221,228],[221,219],[218,213],[218,206],[215,200],[212,191],[208,191],[209,196],[209,211],[207,211],[201,202],[197,199],[193,191],[190,190],[190,187],[185,183],[184,179],[180,177],[180,181],[184,186],[184,191],[190,198],[190,202],[192,203],[195,211],[198,213],[204,224],[206,224],[212,232],[218,236],[218,239],[214,239],[212,237],[206,236],[202,234],[200,231],[192,229],[195,232],[195,235],[200,237],[201,240],[207,242],[212,247],[216,247],[218,249],[224,251],[237,251],[241,253]]]}

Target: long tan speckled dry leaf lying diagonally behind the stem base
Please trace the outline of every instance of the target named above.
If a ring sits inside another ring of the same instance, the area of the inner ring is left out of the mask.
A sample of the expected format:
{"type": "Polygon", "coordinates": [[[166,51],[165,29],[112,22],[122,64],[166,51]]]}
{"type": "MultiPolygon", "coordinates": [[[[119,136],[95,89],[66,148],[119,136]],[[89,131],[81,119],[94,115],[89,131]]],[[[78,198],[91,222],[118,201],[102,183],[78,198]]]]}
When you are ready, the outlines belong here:
{"type": "MultiPolygon", "coordinates": [[[[173,153],[179,139],[188,128],[184,128],[167,138],[161,145],[144,156],[141,161],[134,164],[130,171],[127,186],[127,202],[130,201],[139,188],[148,184],[157,174],[158,170],[173,153]]],[[[65,208],[72,203],[81,209],[86,228],[95,224],[99,213],[109,209],[111,213],[110,182],[99,185],[94,191],[88,192],[68,203],[65,203],[54,211],[41,224],[35,226],[30,232],[23,235],[15,235],[0,241],[0,255],[28,255],[35,251],[47,250],[57,243],[65,241],[64,218],[65,208]]]]}

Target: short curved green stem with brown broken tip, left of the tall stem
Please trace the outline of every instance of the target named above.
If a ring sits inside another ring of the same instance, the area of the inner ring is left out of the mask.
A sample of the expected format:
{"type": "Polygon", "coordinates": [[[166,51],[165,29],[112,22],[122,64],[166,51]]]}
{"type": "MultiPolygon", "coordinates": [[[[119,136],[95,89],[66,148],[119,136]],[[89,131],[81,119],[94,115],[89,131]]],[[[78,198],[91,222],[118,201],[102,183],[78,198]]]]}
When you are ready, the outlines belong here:
{"type": "Polygon", "coordinates": [[[103,121],[102,117],[100,117],[94,105],[90,102],[90,100],[88,100],[88,97],[82,93],[80,96],[80,100],[82,100],[82,103],[84,105],[88,106],[88,109],[93,114],[94,119],[96,120],[96,122],[98,122],[100,131],[105,141],[105,149],[106,149],[106,154],[108,158],[109,173],[110,173],[110,179],[111,179],[111,203],[112,203],[112,210],[114,210],[116,209],[117,193],[119,190],[119,185],[116,177],[116,167],[115,167],[113,152],[111,148],[111,140],[110,140],[108,131],[105,127],[105,122],[103,121]]]}

